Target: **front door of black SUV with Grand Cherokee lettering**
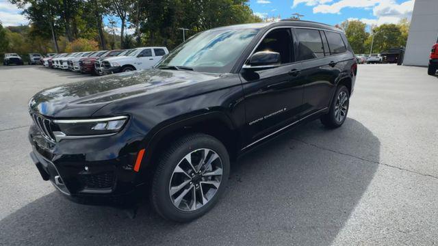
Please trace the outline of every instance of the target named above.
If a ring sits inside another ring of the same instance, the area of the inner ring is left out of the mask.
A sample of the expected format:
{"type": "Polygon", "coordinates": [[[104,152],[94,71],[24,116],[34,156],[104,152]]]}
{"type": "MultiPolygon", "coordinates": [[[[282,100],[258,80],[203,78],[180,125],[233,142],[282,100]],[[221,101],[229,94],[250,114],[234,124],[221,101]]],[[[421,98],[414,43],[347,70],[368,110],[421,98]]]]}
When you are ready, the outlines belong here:
{"type": "Polygon", "coordinates": [[[240,74],[246,109],[246,142],[254,143],[298,119],[302,111],[302,75],[294,62],[289,28],[271,30],[257,46],[274,51],[281,64],[274,68],[246,69],[240,74]]]}

